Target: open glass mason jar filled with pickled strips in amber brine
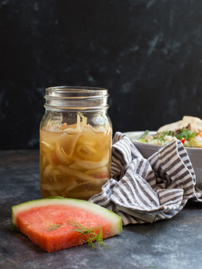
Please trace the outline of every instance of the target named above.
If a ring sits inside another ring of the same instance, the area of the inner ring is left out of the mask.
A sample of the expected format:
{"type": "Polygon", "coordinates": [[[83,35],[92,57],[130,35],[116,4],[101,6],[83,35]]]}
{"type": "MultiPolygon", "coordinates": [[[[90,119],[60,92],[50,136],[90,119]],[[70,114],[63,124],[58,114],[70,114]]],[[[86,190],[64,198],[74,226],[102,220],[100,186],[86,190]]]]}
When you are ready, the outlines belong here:
{"type": "Polygon", "coordinates": [[[88,200],[111,178],[108,90],[46,88],[40,123],[40,192],[88,200]]]}

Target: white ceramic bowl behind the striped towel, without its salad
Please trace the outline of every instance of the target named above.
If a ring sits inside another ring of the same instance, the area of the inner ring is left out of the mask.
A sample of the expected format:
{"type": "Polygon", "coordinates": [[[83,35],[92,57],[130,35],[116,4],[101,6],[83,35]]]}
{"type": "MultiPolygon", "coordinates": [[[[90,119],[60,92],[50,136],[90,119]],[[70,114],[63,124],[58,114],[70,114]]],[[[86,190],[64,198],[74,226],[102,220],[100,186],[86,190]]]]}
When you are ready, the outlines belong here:
{"type": "MultiPolygon", "coordinates": [[[[129,139],[139,139],[140,136],[145,131],[137,131],[137,132],[125,132],[129,139]]],[[[155,131],[150,131],[149,134],[156,134],[155,131]]],[[[139,152],[143,155],[145,159],[149,158],[152,154],[157,152],[161,147],[161,145],[152,145],[140,142],[132,142],[135,147],[139,150],[139,152]]],[[[199,148],[186,148],[189,159],[192,163],[192,167],[194,169],[194,173],[196,175],[196,187],[202,186],[202,149],[199,148]]]]}

